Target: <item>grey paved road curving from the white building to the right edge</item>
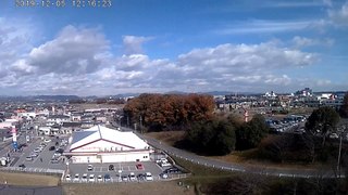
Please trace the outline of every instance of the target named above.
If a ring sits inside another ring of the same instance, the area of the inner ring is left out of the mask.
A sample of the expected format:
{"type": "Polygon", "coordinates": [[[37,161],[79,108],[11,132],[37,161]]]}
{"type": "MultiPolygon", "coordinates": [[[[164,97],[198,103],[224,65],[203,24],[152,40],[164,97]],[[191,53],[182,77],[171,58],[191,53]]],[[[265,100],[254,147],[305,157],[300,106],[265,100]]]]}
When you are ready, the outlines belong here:
{"type": "MultiPolygon", "coordinates": [[[[124,128],[123,128],[124,129],[124,128]]],[[[128,129],[129,130],[129,129],[128,129]]],[[[265,174],[265,176],[277,176],[277,177],[291,177],[291,178],[335,178],[335,173],[333,170],[315,170],[315,169],[281,169],[268,166],[246,166],[243,164],[232,164],[225,161],[219,161],[215,159],[198,156],[192,153],[188,153],[186,151],[182,151],[170,145],[163,144],[160,141],[146,136],[144,134],[137,133],[138,136],[146,140],[148,144],[152,145],[156,148],[160,148],[170,155],[174,155],[179,158],[184,158],[190,160],[195,164],[203,165],[207,167],[214,167],[219,169],[225,169],[231,171],[239,171],[239,172],[248,172],[248,173],[257,173],[257,174],[265,174]]],[[[341,171],[344,172],[344,171],[341,171]]],[[[341,174],[341,178],[345,176],[341,174]]]]}

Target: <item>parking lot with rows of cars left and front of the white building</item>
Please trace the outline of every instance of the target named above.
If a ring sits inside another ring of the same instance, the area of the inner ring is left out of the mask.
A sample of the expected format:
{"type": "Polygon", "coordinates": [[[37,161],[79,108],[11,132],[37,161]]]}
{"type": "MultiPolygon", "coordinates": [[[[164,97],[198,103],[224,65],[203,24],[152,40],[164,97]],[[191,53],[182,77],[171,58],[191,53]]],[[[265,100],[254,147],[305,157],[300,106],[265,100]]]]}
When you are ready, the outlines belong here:
{"type": "Polygon", "coordinates": [[[18,170],[33,168],[62,170],[65,171],[62,178],[63,182],[158,181],[181,177],[179,173],[182,173],[170,164],[162,167],[160,166],[161,164],[154,161],[71,164],[67,162],[64,156],[59,156],[57,152],[58,150],[61,150],[61,152],[65,150],[67,136],[33,136],[29,142],[25,138],[26,133],[18,135],[18,145],[22,145],[22,147],[17,152],[12,151],[9,153],[12,150],[11,144],[0,151],[2,156],[10,154],[11,162],[8,166],[18,168],[18,170]],[[138,165],[141,166],[139,167],[138,165]],[[88,166],[90,167],[89,169],[88,166]],[[151,177],[149,177],[149,173],[151,177]]]}

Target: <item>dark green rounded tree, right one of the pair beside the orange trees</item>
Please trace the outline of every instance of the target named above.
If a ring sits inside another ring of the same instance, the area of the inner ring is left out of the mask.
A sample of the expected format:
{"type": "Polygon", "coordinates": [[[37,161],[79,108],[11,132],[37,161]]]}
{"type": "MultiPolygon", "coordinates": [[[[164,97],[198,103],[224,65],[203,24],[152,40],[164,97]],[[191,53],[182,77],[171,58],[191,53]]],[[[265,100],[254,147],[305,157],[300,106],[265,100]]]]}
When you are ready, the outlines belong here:
{"type": "Polygon", "coordinates": [[[236,130],[237,150],[253,148],[266,136],[269,127],[262,115],[254,115],[252,119],[236,130]]]}

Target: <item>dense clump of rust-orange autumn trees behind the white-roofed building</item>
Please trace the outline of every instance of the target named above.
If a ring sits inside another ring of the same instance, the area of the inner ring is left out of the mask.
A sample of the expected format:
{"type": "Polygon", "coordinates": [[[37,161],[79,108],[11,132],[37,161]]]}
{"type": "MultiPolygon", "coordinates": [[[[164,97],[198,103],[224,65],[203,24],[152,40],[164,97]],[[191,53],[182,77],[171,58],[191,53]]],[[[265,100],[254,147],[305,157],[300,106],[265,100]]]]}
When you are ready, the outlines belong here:
{"type": "Polygon", "coordinates": [[[152,131],[181,129],[189,122],[208,120],[214,110],[214,100],[203,94],[149,94],[127,102],[124,114],[130,123],[152,131]]]}

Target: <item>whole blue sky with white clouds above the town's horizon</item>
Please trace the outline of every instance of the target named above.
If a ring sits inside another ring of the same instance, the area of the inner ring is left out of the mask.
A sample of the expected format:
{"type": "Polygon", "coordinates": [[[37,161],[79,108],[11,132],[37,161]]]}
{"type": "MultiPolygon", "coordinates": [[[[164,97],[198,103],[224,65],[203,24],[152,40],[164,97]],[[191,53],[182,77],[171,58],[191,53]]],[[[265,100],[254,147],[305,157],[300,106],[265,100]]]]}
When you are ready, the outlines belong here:
{"type": "Polygon", "coordinates": [[[0,1],[0,95],[348,89],[347,0],[16,2],[0,1]]]}

